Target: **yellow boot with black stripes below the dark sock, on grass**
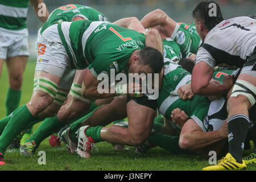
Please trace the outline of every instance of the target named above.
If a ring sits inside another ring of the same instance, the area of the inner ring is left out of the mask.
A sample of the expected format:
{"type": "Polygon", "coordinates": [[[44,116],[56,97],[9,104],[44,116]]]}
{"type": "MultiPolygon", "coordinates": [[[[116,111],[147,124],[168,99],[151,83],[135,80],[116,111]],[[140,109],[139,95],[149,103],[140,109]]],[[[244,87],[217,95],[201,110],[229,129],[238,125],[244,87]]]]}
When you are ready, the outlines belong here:
{"type": "Polygon", "coordinates": [[[236,159],[228,153],[224,158],[218,161],[218,164],[203,168],[203,171],[225,171],[225,170],[241,170],[246,168],[245,162],[242,164],[237,163],[236,159]]]}

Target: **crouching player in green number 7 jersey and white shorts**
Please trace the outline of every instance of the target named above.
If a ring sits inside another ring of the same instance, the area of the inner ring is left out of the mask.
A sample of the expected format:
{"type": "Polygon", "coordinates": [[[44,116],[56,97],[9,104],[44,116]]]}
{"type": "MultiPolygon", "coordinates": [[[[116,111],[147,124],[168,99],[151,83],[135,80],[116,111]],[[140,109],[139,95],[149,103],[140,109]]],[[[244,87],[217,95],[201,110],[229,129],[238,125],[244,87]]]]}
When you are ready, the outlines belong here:
{"type": "Polygon", "coordinates": [[[64,81],[61,78],[72,69],[85,69],[89,66],[83,78],[82,96],[88,102],[85,110],[89,109],[92,100],[127,93],[127,90],[98,93],[97,85],[101,81],[97,80],[97,76],[101,72],[110,74],[110,69],[115,69],[115,74],[123,70],[126,73],[159,73],[163,67],[163,56],[158,49],[145,46],[147,35],[150,34],[150,37],[155,39],[150,41],[162,44],[156,31],[146,33],[145,40],[144,34],[110,22],[79,20],[48,27],[39,39],[38,62],[42,60],[43,64],[36,65],[31,100],[14,111],[0,137],[0,164],[5,164],[3,154],[11,140],[27,127],[28,123],[57,113],[55,106],[51,104],[58,90],[68,92],[59,89],[58,85],[64,81]]]}

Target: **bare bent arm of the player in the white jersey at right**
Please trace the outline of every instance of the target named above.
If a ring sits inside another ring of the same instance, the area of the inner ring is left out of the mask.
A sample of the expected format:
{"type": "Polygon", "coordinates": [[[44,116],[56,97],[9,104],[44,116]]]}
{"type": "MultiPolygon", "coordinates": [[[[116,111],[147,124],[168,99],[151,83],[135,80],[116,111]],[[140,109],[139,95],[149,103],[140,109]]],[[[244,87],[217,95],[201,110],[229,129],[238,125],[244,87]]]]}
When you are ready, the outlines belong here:
{"type": "Polygon", "coordinates": [[[210,81],[213,76],[213,69],[203,61],[197,63],[193,68],[191,78],[192,92],[200,96],[215,96],[224,94],[233,86],[233,76],[226,76],[223,84],[210,81]]]}

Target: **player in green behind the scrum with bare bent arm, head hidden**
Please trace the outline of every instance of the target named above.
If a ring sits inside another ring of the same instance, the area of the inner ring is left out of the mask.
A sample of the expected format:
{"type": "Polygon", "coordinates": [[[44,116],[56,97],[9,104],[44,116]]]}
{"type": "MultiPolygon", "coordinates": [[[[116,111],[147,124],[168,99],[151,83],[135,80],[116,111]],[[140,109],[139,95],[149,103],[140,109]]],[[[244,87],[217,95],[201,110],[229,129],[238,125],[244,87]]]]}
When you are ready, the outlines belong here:
{"type": "Polygon", "coordinates": [[[183,58],[195,60],[195,54],[201,42],[195,24],[177,23],[160,9],[148,13],[141,23],[145,28],[160,26],[163,33],[180,46],[183,58]]]}

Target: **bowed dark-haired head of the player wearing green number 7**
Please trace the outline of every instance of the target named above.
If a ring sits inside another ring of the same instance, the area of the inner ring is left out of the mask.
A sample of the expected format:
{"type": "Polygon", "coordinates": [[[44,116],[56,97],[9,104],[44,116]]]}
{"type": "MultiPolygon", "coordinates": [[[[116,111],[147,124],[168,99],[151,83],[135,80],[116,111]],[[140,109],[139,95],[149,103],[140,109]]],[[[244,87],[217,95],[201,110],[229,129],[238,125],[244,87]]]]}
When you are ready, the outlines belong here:
{"type": "Polygon", "coordinates": [[[135,52],[129,66],[129,73],[160,73],[163,55],[157,49],[146,47],[135,52]]]}

